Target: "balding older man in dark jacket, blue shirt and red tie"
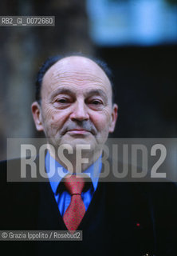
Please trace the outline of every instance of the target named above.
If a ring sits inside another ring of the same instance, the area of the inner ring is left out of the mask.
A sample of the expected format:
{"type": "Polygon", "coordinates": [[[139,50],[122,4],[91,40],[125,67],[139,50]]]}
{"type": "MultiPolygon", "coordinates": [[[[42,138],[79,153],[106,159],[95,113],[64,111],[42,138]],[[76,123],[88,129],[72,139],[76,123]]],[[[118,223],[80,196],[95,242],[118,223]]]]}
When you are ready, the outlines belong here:
{"type": "MultiPolygon", "coordinates": [[[[93,178],[95,163],[98,174],[105,169],[103,145],[115,128],[118,110],[112,102],[112,82],[104,63],[81,55],[50,58],[37,76],[36,99],[32,104],[36,128],[44,131],[54,149],[49,148],[45,156],[45,170],[49,174],[59,167],[65,175],[54,175],[48,182],[10,184],[3,162],[1,229],[82,230],[83,240],[11,242],[14,250],[64,255],[176,255],[174,184],[100,182],[93,178]],[[56,153],[65,145],[69,145],[66,157],[61,158],[56,153]],[[78,145],[85,146],[82,158],[88,159],[82,165],[77,161],[78,145]],[[88,175],[88,182],[83,182],[86,176],[82,174],[88,175]],[[67,184],[76,184],[77,176],[81,190],[71,192],[67,184]],[[67,178],[73,180],[67,183],[67,178]],[[74,218],[70,218],[71,208],[77,213],[74,218]]],[[[7,250],[6,243],[3,246],[7,250]]]]}

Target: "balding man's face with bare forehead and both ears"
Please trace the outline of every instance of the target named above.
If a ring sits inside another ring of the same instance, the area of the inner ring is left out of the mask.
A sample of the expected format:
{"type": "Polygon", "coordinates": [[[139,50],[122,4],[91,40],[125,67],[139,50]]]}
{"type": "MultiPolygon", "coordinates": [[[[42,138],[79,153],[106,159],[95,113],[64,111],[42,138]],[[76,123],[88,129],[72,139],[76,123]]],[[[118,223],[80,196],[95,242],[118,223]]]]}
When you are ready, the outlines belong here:
{"type": "Polygon", "coordinates": [[[90,144],[95,149],[114,130],[117,106],[104,71],[84,57],[63,58],[45,73],[41,106],[32,105],[37,130],[53,146],[90,144]]]}

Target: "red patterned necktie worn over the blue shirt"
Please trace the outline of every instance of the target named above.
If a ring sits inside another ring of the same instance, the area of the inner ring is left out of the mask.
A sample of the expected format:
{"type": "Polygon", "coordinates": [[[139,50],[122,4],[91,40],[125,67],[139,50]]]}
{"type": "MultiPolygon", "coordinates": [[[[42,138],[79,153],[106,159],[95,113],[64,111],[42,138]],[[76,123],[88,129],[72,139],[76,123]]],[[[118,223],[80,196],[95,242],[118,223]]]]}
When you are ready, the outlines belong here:
{"type": "Polygon", "coordinates": [[[76,175],[71,175],[70,177],[66,177],[64,182],[66,189],[71,195],[71,202],[65,210],[63,220],[70,233],[73,233],[77,230],[77,227],[85,215],[85,205],[81,198],[85,180],[84,178],[76,177],[76,175]]]}

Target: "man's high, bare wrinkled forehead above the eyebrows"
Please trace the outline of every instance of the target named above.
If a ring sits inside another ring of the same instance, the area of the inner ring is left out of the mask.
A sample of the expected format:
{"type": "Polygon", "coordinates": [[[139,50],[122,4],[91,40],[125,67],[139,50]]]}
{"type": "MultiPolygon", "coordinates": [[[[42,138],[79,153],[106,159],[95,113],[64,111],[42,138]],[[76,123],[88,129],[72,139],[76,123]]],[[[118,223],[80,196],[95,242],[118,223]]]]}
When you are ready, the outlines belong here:
{"type": "Polygon", "coordinates": [[[103,90],[112,90],[104,70],[89,58],[72,56],[62,58],[47,70],[41,90],[54,90],[56,87],[69,85],[101,86],[103,90]]]}

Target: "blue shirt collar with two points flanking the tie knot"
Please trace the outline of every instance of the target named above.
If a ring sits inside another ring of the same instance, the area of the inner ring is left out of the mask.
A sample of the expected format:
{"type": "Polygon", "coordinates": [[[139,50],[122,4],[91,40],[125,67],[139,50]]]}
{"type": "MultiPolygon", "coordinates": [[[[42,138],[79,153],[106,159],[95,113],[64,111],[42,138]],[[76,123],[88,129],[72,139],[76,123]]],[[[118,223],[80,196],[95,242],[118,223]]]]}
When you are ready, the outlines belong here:
{"type": "MultiPolygon", "coordinates": [[[[83,173],[87,174],[92,180],[92,186],[94,191],[98,185],[99,175],[102,168],[101,156],[89,166],[83,173]]],[[[57,162],[47,151],[45,156],[45,169],[49,176],[49,182],[52,186],[53,193],[57,193],[57,187],[66,174],[69,174],[69,170],[66,170],[59,162],[57,162]]]]}

